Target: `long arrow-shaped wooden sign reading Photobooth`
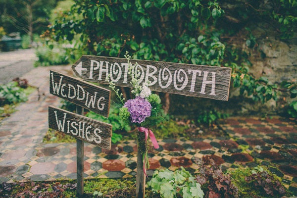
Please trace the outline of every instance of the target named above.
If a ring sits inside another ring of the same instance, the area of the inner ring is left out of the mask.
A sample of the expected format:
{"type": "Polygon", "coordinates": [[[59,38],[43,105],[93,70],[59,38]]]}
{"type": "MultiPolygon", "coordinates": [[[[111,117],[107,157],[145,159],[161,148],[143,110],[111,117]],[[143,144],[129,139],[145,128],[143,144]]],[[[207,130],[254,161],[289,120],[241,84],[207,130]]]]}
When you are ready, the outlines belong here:
{"type": "MultiPolygon", "coordinates": [[[[148,60],[137,62],[140,81],[150,81],[152,91],[191,97],[228,100],[231,68],[148,60]]],[[[131,87],[128,63],[125,58],[83,55],[72,65],[75,74],[85,81],[106,83],[110,79],[117,86],[131,87]]]]}

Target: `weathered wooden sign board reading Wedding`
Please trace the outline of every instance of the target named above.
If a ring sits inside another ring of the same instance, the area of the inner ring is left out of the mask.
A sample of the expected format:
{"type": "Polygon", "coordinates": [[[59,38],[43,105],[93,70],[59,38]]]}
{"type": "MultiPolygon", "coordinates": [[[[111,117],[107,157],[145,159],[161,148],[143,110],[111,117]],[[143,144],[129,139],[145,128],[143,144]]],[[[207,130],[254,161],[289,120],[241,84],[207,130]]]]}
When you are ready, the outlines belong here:
{"type": "Polygon", "coordinates": [[[50,71],[49,93],[108,117],[110,90],[50,71]]]}

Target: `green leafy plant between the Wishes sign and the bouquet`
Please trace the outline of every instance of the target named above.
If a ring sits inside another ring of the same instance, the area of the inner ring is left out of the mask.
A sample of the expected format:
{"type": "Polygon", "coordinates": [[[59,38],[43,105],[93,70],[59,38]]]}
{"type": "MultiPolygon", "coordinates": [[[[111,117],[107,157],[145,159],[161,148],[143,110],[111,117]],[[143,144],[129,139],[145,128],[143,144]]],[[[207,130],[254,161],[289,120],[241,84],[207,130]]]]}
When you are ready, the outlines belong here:
{"type": "Polygon", "coordinates": [[[128,132],[131,130],[129,125],[124,125],[122,123],[120,117],[119,117],[119,108],[111,107],[109,109],[109,116],[108,118],[103,117],[97,113],[94,113],[92,111],[88,112],[86,114],[87,117],[93,118],[105,123],[109,123],[112,125],[112,137],[111,137],[111,142],[112,143],[117,143],[118,141],[122,140],[122,135],[115,133],[115,132],[128,132]]]}

